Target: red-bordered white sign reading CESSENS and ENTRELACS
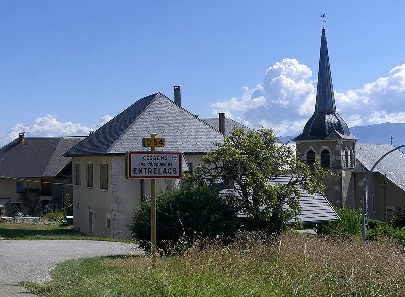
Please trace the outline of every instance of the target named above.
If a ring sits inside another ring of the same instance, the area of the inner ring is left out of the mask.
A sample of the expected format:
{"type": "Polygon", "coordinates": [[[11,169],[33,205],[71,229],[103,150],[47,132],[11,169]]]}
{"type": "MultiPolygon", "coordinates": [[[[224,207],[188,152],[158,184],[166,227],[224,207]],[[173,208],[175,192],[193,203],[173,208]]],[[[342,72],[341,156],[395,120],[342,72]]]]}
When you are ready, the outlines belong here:
{"type": "Polygon", "coordinates": [[[128,179],[177,179],[181,177],[180,152],[127,152],[128,179]]]}

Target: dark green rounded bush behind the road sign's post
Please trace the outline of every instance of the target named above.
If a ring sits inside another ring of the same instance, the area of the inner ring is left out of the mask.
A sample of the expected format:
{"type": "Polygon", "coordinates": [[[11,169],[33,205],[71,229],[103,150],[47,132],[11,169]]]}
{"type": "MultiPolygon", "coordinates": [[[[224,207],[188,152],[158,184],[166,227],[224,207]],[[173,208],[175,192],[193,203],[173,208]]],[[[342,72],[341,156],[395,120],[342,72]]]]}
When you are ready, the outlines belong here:
{"type": "MultiPolygon", "coordinates": [[[[180,237],[189,242],[200,237],[223,236],[226,240],[238,228],[237,204],[232,197],[210,192],[205,186],[182,185],[161,193],[157,199],[157,245],[167,248],[165,241],[180,237]]],[[[150,248],[150,201],[134,210],[128,226],[143,248],[150,248]]]]}

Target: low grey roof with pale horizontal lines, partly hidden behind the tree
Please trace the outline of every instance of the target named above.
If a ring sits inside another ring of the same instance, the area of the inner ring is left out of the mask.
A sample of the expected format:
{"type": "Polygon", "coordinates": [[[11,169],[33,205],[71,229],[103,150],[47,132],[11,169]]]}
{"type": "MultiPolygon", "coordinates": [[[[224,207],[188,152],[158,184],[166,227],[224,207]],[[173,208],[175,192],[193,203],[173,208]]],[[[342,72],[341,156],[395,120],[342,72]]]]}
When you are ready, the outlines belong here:
{"type": "MultiPolygon", "coordinates": [[[[294,178],[293,175],[283,175],[275,179],[267,181],[269,185],[278,184],[287,184],[291,178],[294,178]]],[[[238,195],[236,190],[224,189],[223,183],[219,184],[219,187],[222,187],[222,193],[232,192],[235,195],[238,195]]],[[[237,185],[236,185],[237,187],[237,185]]],[[[340,221],[338,214],[335,209],[331,206],[328,199],[323,194],[314,194],[311,195],[306,191],[301,191],[300,197],[300,207],[301,213],[294,219],[285,222],[287,225],[295,224],[296,220],[302,221],[303,224],[317,224],[325,223],[330,221],[340,221]]],[[[288,206],[284,206],[284,209],[288,209],[288,206]]],[[[246,216],[246,214],[241,214],[241,217],[246,216]]]]}

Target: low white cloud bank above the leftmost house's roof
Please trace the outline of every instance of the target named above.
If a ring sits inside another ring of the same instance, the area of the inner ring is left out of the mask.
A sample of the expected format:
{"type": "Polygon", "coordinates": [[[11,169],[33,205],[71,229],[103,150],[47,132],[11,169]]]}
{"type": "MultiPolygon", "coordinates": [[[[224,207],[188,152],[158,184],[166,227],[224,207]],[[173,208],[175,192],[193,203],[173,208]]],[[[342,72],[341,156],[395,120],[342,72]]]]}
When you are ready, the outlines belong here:
{"type": "Polygon", "coordinates": [[[89,131],[97,130],[112,118],[106,115],[97,124],[86,127],[79,123],[59,122],[56,115],[38,117],[29,126],[18,123],[10,129],[8,134],[0,134],[0,144],[6,144],[16,139],[21,132],[22,126],[24,126],[24,131],[27,132],[28,137],[86,136],[89,134],[89,131]]]}

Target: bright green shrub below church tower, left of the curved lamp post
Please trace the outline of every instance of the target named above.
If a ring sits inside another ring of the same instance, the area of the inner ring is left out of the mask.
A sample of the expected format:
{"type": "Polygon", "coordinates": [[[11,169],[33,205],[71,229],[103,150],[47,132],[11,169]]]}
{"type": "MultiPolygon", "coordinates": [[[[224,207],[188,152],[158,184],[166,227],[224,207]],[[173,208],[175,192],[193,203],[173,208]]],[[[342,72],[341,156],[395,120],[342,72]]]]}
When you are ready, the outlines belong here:
{"type": "Polygon", "coordinates": [[[323,233],[334,235],[361,234],[361,210],[342,207],[337,209],[337,213],[341,221],[325,224],[322,229],[323,233]]]}

